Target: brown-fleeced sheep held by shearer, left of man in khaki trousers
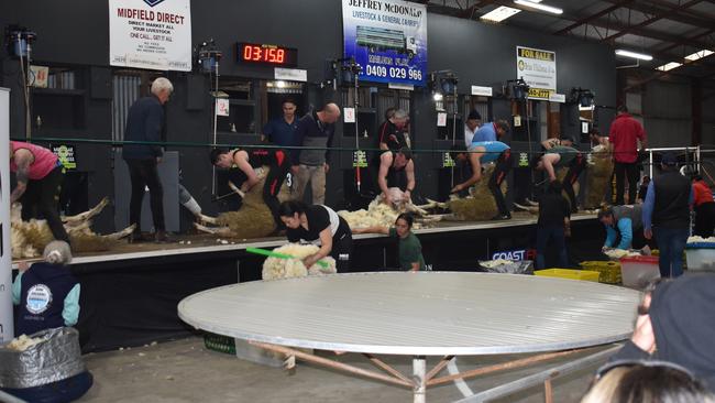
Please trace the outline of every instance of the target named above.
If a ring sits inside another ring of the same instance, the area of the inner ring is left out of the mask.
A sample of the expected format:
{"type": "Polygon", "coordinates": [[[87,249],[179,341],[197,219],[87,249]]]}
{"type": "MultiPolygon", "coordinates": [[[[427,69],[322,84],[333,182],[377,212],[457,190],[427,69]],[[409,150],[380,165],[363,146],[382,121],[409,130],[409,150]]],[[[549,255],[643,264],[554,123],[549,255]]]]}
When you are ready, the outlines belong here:
{"type": "MultiPolygon", "coordinates": [[[[264,238],[273,233],[276,230],[276,224],[271,214],[271,209],[263,202],[263,185],[268,176],[268,166],[256,168],[258,183],[245,194],[229,183],[231,188],[243,197],[241,207],[237,211],[221,213],[218,217],[201,215],[201,224],[195,222],[194,226],[199,231],[226,238],[264,238]],[[211,227],[207,225],[211,225],[211,227]]],[[[278,199],[283,202],[289,197],[289,188],[284,184],[278,199]]]]}

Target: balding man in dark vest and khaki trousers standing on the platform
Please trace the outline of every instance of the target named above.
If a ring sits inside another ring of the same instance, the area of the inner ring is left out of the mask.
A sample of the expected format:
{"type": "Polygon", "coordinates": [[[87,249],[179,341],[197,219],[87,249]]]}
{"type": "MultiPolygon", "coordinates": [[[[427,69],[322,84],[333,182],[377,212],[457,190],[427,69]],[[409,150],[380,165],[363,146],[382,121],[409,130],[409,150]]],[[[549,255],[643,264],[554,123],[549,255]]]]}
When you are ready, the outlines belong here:
{"type": "Polygon", "coordinates": [[[292,173],[296,177],[296,199],[302,200],[308,183],[312,190],[312,204],[326,203],[326,174],[330,170],[330,146],[340,119],[340,108],[326,104],[300,118],[296,129],[296,145],[312,148],[292,152],[292,173]]]}

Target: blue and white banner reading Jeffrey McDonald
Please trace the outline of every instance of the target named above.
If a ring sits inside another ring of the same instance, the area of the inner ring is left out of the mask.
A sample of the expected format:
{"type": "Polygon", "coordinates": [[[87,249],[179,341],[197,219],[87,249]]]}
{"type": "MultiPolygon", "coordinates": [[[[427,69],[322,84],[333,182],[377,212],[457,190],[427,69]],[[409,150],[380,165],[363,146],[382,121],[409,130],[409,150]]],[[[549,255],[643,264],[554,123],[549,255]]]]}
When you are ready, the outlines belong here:
{"type": "Polygon", "coordinates": [[[360,79],[424,86],[427,7],[399,0],[342,0],[344,56],[360,79]]]}

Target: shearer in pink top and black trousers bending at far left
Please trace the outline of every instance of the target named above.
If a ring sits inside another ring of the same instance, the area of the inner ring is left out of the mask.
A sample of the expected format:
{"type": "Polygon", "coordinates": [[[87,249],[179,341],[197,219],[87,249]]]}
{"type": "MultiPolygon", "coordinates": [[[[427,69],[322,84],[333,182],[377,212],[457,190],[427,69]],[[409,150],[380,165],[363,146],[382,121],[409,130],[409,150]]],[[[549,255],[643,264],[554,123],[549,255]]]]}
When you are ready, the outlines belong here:
{"type": "Polygon", "coordinates": [[[69,237],[57,214],[57,200],[65,168],[52,151],[38,145],[10,142],[10,171],[15,173],[18,185],[10,204],[20,200],[22,219],[38,218],[42,213],[55,239],[69,243],[69,237]]]}

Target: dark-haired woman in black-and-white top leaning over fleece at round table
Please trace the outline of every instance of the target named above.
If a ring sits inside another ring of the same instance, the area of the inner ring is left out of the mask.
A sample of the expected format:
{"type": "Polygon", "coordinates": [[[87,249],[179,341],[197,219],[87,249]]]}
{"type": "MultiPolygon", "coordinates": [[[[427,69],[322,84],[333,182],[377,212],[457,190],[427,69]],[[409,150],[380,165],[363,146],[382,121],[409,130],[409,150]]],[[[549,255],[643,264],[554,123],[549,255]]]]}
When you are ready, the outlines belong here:
{"type": "Polygon", "coordinates": [[[290,242],[310,242],[320,249],[302,260],[311,268],[320,259],[330,255],[337,264],[338,273],[350,271],[352,254],[352,232],[344,218],[332,208],[323,205],[308,206],[302,202],[283,202],[279,207],[280,220],[285,224],[286,237],[290,242]]]}

